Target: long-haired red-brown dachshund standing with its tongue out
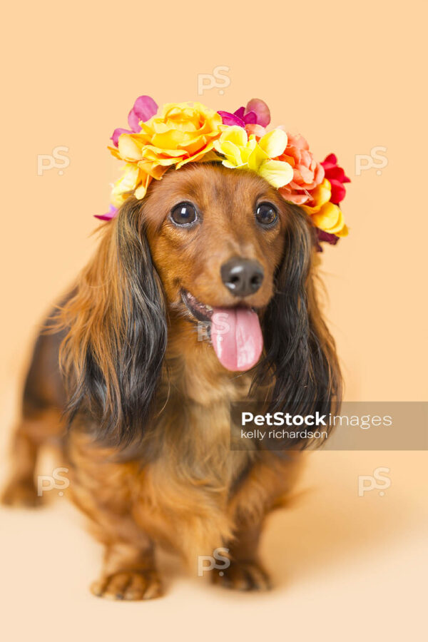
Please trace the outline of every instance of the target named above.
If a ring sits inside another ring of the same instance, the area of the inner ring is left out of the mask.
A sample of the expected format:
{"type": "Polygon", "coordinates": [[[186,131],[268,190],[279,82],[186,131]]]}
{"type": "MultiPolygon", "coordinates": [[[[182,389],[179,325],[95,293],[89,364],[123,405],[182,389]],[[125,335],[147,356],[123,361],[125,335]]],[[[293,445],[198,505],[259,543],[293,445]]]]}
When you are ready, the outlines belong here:
{"type": "Polygon", "coordinates": [[[100,231],[36,342],[4,502],[40,499],[39,449],[61,437],[69,494],[106,546],[96,596],[160,596],[156,546],[193,569],[224,547],[215,583],[267,588],[260,533],[306,444],[231,449],[230,404],[302,414],[339,402],[315,229],[259,175],[192,163],[129,196],[100,231]],[[229,322],[214,340],[219,312],[229,322]]]}

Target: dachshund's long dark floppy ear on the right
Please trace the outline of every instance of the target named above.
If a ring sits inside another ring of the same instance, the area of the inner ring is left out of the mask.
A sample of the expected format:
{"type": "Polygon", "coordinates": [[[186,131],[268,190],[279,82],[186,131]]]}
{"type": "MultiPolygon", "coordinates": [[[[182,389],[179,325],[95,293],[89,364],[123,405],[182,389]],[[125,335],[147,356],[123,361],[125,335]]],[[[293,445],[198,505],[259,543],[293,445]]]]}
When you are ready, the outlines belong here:
{"type": "MultiPolygon", "coordinates": [[[[266,382],[273,375],[271,412],[305,416],[318,410],[328,417],[330,411],[335,412],[339,407],[342,378],[335,342],[317,303],[313,265],[315,230],[297,206],[288,205],[288,213],[276,293],[263,319],[266,357],[256,382],[266,382]]],[[[308,445],[307,440],[296,439],[283,442],[280,447],[308,445]]]]}

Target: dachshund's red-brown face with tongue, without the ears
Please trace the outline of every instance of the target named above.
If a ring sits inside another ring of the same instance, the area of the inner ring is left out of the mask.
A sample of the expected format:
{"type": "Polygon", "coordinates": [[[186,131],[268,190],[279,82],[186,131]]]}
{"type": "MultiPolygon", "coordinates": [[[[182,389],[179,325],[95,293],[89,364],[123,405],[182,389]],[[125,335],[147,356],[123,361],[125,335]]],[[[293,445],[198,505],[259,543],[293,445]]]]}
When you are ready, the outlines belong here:
{"type": "Polygon", "coordinates": [[[142,214],[168,305],[210,328],[226,368],[249,370],[290,226],[285,201],[255,173],[188,165],[153,187],[142,214]]]}

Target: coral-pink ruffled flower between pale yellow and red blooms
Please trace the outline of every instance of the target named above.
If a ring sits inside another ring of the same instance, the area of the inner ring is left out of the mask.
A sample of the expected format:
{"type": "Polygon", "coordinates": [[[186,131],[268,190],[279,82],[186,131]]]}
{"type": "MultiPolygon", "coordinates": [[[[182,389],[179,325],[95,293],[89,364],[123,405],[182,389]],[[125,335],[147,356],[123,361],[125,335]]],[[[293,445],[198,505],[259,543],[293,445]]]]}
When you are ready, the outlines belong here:
{"type": "Polygon", "coordinates": [[[280,161],[287,161],[293,168],[292,181],[280,188],[285,200],[302,205],[310,199],[310,191],[324,180],[325,170],[322,163],[317,163],[309,151],[309,145],[303,136],[292,136],[287,133],[288,143],[280,161]]]}

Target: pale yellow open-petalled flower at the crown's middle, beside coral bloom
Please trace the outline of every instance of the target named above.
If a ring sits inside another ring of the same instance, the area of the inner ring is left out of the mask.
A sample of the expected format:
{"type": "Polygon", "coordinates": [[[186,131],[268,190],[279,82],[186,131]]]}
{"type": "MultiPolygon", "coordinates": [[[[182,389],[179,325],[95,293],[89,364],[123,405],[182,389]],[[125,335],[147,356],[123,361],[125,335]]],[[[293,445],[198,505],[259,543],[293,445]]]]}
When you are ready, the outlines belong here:
{"type": "Polygon", "coordinates": [[[242,127],[228,126],[214,141],[215,151],[225,157],[225,167],[253,170],[275,188],[283,187],[292,180],[290,163],[272,160],[281,156],[286,147],[287,134],[281,129],[270,131],[257,141],[254,134],[248,137],[242,127]]]}

